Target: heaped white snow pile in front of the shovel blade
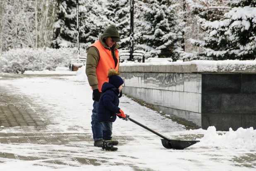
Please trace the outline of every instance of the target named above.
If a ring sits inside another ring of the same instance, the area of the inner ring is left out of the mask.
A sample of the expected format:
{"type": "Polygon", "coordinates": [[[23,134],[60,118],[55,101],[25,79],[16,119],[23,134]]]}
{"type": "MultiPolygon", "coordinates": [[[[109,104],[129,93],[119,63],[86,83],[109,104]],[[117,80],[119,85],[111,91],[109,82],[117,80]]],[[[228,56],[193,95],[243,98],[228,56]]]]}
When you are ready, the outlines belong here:
{"type": "Polygon", "coordinates": [[[208,127],[207,130],[190,130],[193,133],[203,133],[204,137],[200,140],[201,146],[228,147],[228,148],[256,148],[256,129],[238,128],[236,131],[229,128],[229,131],[219,135],[214,126],[208,127]]]}

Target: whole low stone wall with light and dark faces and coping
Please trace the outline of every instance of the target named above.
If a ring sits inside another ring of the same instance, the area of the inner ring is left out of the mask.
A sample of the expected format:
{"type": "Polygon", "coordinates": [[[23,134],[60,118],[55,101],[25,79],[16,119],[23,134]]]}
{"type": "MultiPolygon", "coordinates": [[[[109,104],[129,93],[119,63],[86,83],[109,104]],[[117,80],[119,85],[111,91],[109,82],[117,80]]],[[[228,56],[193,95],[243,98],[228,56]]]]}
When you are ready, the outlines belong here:
{"type": "Polygon", "coordinates": [[[122,91],[196,128],[256,127],[254,66],[210,72],[185,64],[121,66],[122,91]]]}

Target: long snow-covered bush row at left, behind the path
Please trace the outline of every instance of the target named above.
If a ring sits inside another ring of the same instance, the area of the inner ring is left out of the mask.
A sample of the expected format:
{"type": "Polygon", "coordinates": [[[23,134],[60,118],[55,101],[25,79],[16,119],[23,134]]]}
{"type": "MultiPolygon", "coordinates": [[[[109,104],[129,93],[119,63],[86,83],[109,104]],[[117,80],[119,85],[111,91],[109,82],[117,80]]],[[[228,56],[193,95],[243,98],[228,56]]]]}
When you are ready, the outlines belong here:
{"type": "MultiPolygon", "coordinates": [[[[81,52],[83,55],[85,52],[81,52]]],[[[0,71],[23,73],[26,70],[55,70],[56,67],[68,67],[70,56],[76,56],[76,48],[18,48],[0,56],[0,71]]]]}

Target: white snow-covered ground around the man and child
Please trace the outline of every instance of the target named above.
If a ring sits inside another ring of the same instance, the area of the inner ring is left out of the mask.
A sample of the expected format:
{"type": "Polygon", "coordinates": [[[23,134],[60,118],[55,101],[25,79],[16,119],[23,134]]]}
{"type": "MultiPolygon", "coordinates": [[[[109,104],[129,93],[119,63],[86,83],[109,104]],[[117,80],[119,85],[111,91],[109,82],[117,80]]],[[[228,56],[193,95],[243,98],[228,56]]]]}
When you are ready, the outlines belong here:
{"type": "MultiPolygon", "coordinates": [[[[9,96],[27,99],[35,111],[38,109],[45,111],[40,113],[39,118],[50,122],[41,130],[43,134],[54,136],[58,133],[70,133],[92,137],[90,124],[92,90],[86,82],[84,69],[78,70],[76,76],[33,76],[31,72],[26,76],[25,72],[23,77],[14,79],[5,79],[6,74],[0,73],[0,89],[6,90],[9,96]]],[[[186,130],[183,125],[139,105],[126,96],[120,99],[120,108],[131,118],[170,139],[198,137],[200,142],[184,150],[166,149],[157,135],[131,121],[117,118],[113,123],[113,138],[120,141],[117,152],[106,152],[93,147],[92,138],[66,145],[2,143],[0,153],[12,153],[30,158],[43,155],[43,159],[26,161],[0,158],[1,170],[254,171],[256,169],[255,128],[230,129],[229,132],[216,132],[214,127],[209,127],[208,130],[186,130]],[[202,135],[204,137],[200,139],[202,135]],[[95,162],[81,164],[72,160],[74,158],[95,162]],[[45,162],[48,160],[58,160],[63,164],[45,162]]],[[[33,127],[30,130],[38,131],[33,127]]],[[[24,131],[24,128],[0,128],[0,132],[6,133],[21,131],[24,131]]]]}

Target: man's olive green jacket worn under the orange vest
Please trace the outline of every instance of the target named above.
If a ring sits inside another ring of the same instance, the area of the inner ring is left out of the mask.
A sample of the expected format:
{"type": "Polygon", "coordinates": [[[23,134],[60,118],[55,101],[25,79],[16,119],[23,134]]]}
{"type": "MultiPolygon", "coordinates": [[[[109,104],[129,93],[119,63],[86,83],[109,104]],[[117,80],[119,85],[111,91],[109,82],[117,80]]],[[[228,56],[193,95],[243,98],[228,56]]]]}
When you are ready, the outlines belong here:
{"type": "MultiPolygon", "coordinates": [[[[115,50],[120,47],[118,43],[114,44],[112,48],[109,48],[109,46],[106,45],[105,41],[103,41],[102,36],[99,37],[99,41],[104,46],[104,48],[111,50],[112,56],[116,56],[115,50]]],[[[99,63],[99,60],[100,60],[100,56],[99,56],[98,49],[94,46],[89,47],[87,51],[85,73],[87,75],[89,85],[92,87],[93,90],[98,89],[98,79],[96,74],[96,68],[99,63]]],[[[118,73],[120,73],[119,63],[117,65],[118,65],[118,73]]]]}

